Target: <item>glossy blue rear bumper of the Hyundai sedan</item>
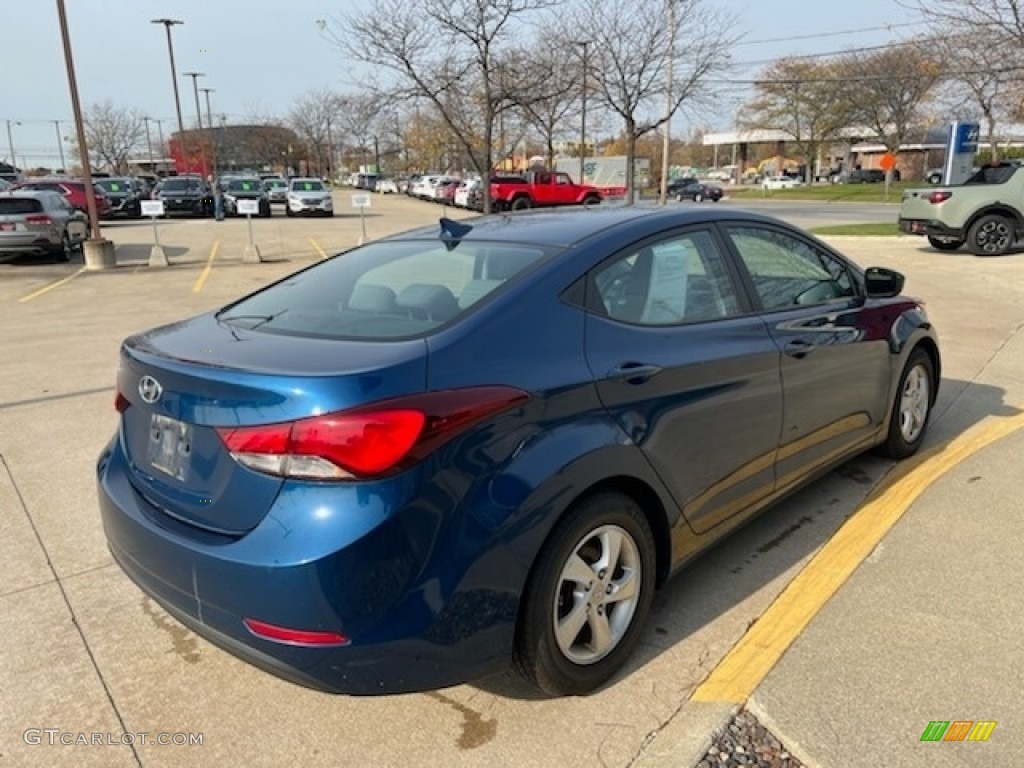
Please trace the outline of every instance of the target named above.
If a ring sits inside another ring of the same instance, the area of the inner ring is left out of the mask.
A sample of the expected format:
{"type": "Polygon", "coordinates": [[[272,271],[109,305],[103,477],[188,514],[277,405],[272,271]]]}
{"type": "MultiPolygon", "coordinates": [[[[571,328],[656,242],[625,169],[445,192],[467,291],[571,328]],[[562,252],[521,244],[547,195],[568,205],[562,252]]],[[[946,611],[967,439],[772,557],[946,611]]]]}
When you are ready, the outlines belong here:
{"type": "MultiPolygon", "coordinates": [[[[135,490],[119,438],[97,473],[108,545],[125,573],[197,634],[263,670],[330,692],[393,693],[476,679],[511,659],[514,590],[464,589],[473,580],[444,549],[447,521],[428,510],[389,516],[362,492],[361,504],[309,529],[296,523],[315,518],[316,494],[292,494],[249,534],[204,538],[135,490]],[[244,617],[339,632],[349,644],[272,642],[244,617]]],[[[510,559],[510,582],[525,578],[513,570],[510,559]]]]}

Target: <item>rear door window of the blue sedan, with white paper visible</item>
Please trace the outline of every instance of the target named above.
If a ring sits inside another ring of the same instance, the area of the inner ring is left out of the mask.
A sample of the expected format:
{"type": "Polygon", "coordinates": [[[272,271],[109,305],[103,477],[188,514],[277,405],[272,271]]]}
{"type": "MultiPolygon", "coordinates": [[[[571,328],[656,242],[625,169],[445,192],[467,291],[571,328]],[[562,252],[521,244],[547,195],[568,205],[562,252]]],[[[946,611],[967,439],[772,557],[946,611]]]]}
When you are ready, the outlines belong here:
{"type": "Polygon", "coordinates": [[[711,233],[679,234],[631,251],[594,275],[611,319],[674,326],[738,314],[739,300],[711,233]]]}

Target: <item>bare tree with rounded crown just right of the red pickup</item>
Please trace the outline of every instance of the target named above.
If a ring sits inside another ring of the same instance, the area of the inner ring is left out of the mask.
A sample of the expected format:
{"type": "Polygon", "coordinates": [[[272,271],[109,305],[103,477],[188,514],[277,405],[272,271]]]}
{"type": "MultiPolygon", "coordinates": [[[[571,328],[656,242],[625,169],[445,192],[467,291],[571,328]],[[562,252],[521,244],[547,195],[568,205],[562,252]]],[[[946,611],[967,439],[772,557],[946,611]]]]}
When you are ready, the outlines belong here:
{"type": "Polygon", "coordinates": [[[703,0],[583,0],[571,27],[593,51],[589,77],[598,99],[623,120],[627,197],[633,200],[637,139],[710,94],[712,80],[729,66],[736,25],[703,0]]]}

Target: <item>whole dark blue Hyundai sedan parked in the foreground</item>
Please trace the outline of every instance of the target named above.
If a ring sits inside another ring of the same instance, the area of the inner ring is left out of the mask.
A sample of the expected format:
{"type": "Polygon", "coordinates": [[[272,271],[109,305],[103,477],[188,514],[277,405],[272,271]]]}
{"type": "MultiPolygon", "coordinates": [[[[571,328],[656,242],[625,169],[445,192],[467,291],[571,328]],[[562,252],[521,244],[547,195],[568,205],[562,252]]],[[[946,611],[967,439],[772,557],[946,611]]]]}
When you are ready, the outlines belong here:
{"type": "Polygon", "coordinates": [[[298,683],[587,693],[697,552],[919,449],[939,347],[902,286],[731,209],[441,219],[125,340],[110,548],[298,683]]]}

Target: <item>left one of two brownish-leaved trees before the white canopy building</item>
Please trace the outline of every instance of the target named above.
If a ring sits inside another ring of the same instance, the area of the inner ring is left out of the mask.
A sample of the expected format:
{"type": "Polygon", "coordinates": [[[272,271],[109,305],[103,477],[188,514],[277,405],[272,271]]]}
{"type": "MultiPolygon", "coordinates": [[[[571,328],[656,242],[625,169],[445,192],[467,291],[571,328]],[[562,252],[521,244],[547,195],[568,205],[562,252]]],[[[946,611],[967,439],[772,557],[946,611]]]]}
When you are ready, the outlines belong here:
{"type": "Polygon", "coordinates": [[[836,74],[831,61],[780,58],[758,79],[740,119],[744,128],[775,129],[790,136],[804,160],[808,183],[818,150],[839,138],[848,124],[849,104],[836,87],[836,74]]]}

